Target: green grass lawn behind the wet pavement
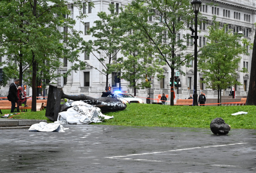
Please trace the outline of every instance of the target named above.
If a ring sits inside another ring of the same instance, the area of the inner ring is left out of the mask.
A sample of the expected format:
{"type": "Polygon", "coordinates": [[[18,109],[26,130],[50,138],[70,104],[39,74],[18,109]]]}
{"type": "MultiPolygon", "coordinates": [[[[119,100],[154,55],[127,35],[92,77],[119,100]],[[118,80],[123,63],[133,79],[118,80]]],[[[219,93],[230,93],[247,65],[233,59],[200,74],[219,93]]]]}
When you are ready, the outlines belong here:
{"type": "MultiPolygon", "coordinates": [[[[7,114],[10,110],[2,110],[2,112],[7,114]]],[[[256,106],[170,106],[132,103],[128,104],[125,110],[104,114],[114,118],[97,124],[209,128],[214,118],[221,117],[231,128],[256,129],[256,106]],[[231,115],[240,111],[248,114],[231,115]]],[[[45,110],[38,112],[28,110],[13,118],[41,119],[51,122],[45,117],[45,110]]]]}

